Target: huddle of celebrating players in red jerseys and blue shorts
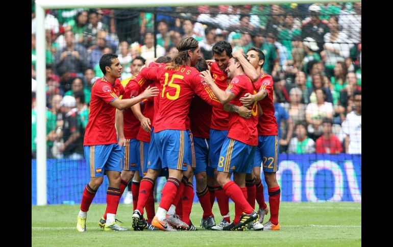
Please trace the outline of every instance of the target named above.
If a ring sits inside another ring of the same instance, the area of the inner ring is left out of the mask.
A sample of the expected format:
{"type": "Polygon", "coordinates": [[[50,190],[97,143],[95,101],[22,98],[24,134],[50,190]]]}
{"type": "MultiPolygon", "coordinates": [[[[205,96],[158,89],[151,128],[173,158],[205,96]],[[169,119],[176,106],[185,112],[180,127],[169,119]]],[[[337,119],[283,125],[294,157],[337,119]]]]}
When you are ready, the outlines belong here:
{"type": "Polygon", "coordinates": [[[173,59],[146,62],[123,81],[125,87],[118,79],[117,55],[101,58],[105,76],[92,87],[84,137],[90,182],[83,191],[78,231],[86,231],[87,211],[104,175],[109,179],[107,208],[99,222],[104,231],[128,230],[115,215],[130,182],[134,230],[196,230],[190,221],[194,177],[201,227],[279,230],[278,125],[272,76],[262,72],[263,52],[252,47],[245,56],[232,53],[231,45],[220,41],[212,48],[214,60],[205,61],[192,37],[183,38],[177,49],[173,59]],[[155,211],[158,176],[167,180],[155,211]],[[235,203],[232,222],[229,198],[235,203]],[[222,215],[218,224],[212,212],[215,199],[222,215]],[[269,211],[270,219],[262,224],[269,211]]]}

